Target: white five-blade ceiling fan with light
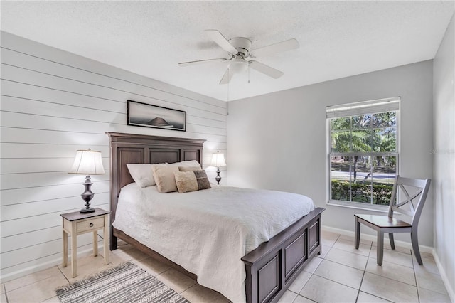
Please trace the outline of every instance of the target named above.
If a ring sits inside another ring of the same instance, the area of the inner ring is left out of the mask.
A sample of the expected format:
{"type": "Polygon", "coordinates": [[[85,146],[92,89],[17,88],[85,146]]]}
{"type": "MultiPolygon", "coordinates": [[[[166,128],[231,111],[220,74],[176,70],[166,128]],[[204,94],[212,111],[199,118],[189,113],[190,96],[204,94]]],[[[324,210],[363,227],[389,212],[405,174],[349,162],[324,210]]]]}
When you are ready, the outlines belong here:
{"type": "Polygon", "coordinates": [[[293,50],[299,48],[299,42],[296,39],[289,39],[279,43],[274,43],[269,46],[264,46],[262,48],[251,48],[251,41],[248,38],[244,37],[235,37],[230,38],[229,40],[223,36],[220,31],[215,29],[205,30],[205,33],[211,38],[215,43],[218,44],[223,50],[228,52],[229,58],[213,58],[205,60],[196,60],[178,63],[179,66],[189,66],[197,65],[200,63],[210,63],[214,61],[230,61],[228,69],[225,71],[223,78],[220,80],[220,84],[227,84],[232,79],[232,75],[235,73],[240,73],[246,70],[248,67],[257,70],[260,73],[268,75],[272,78],[279,78],[284,73],[280,70],[271,68],[269,65],[265,65],[256,60],[247,60],[250,58],[256,58],[262,55],[270,55],[273,53],[280,53],[286,50],[293,50]]]}

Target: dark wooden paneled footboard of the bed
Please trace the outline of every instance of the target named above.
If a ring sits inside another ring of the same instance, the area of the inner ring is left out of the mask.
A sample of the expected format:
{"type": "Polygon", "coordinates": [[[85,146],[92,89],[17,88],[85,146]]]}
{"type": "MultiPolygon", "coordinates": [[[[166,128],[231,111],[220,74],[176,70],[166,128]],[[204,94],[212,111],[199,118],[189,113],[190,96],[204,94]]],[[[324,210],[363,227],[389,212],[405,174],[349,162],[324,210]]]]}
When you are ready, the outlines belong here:
{"type": "Polygon", "coordinates": [[[242,257],[247,302],[277,302],[299,272],[321,254],[321,213],[316,208],[269,242],[242,257]]]}

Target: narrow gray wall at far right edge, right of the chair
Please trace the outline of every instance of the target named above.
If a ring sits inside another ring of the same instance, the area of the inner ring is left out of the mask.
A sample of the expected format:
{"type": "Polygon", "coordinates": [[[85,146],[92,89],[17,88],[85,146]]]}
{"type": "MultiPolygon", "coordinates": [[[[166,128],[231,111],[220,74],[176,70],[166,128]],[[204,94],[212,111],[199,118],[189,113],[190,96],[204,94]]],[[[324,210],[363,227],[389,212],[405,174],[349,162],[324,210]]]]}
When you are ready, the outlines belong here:
{"type": "Polygon", "coordinates": [[[455,301],[455,21],[434,58],[434,252],[455,301]]]}

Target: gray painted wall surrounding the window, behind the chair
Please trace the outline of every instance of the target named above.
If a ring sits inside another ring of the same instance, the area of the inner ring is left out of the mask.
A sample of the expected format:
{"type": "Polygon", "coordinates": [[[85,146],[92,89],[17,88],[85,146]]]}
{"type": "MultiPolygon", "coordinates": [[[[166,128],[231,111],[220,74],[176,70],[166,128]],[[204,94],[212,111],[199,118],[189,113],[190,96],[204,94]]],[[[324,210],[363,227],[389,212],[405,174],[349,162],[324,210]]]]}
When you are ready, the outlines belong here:
{"type": "MultiPolygon", "coordinates": [[[[326,205],[326,107],[400,96],[400,174],[432,178],[432,68],[428,60],[229,102],[228,185],[303,193],[326,208],[323,225],[353,231],[353,214],[368,211],[326,205]]],[[[432,196],[419,225],[427,246],[432,196]]],[[[396,238],[410,241],[409,234],[396,238]]]]}

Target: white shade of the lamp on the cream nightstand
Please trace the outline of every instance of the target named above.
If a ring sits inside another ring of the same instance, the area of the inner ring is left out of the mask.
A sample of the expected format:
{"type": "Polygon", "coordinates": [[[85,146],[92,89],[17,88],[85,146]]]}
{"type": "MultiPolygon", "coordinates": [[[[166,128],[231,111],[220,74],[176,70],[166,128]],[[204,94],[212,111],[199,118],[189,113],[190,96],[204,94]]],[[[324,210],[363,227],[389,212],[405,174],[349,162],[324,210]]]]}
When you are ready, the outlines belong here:
{"type": "Polygon", "coordinates": [[[78,150],[69,174],[105,174],[102,166],[101,151],[78,150]]]}

